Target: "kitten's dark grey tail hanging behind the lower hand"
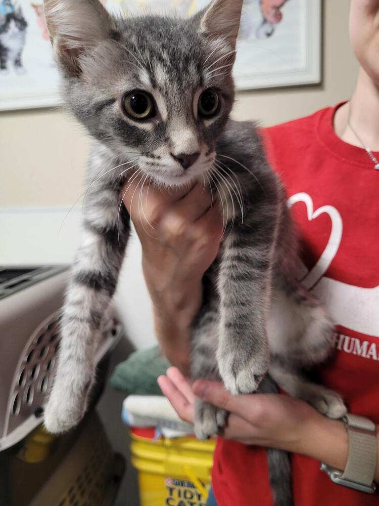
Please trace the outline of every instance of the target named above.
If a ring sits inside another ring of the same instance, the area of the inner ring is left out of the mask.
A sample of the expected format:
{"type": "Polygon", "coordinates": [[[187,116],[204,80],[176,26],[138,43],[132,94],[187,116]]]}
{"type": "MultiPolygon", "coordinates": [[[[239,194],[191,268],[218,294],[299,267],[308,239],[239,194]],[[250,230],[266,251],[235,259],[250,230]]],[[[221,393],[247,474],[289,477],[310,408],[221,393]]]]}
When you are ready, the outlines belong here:
{"type": "MultiPolygon", "coordinates": [[[[277,394],[276,383],[269,374],[262,379],[258,392],[277,394]]],[[[291,457],[287,451],[267,448],[268,473],[275,506],[294,506],[292,496],[291,457]]]]}

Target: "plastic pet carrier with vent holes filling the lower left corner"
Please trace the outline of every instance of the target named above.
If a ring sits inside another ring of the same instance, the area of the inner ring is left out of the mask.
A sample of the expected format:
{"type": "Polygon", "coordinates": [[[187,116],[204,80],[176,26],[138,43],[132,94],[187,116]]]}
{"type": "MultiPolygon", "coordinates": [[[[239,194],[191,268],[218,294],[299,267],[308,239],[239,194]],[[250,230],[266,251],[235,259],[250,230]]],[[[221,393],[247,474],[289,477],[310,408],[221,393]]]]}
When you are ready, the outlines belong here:
{"type": "Polygon", "coordinates": [[[59,437],[41,426],[66,281],[66,267],[0,268],[1,506],[108,506],[123,474],[123,459],[113,453],[94,411],[122,334],[115,314],[98,340],[97,383],[87,415],[59,437]]]}

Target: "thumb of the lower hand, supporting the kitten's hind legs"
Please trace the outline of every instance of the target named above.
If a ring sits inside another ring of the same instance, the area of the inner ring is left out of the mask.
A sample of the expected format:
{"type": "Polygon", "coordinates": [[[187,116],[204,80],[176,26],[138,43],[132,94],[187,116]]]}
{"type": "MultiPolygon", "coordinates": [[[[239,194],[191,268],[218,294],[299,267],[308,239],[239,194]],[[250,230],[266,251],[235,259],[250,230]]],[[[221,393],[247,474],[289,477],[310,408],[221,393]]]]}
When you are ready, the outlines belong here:
{"type": "Polygon", "coordinates": [[[252,395],[232,395],[222,383],[199,379],[192,388],[194,394],[203,401],[238,414],[247,420],[255,410],[256,403],[252,395]]]}

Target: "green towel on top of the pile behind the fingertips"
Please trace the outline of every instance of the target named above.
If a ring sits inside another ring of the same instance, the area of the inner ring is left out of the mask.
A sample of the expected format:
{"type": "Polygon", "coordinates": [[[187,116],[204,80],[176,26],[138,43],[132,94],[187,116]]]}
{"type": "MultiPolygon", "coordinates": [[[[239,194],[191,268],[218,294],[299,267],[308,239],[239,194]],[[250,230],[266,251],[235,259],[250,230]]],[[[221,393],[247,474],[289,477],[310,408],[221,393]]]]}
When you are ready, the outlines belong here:
{"type": "Polygon", "coordinates": [[[158,346],[135,351],[125,362],[118,364],[111,377],[111,385],[129,395],[162,395],[157,377],[170,367],[158,346]]]}

